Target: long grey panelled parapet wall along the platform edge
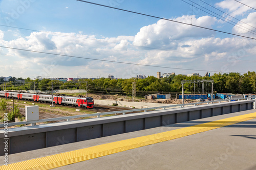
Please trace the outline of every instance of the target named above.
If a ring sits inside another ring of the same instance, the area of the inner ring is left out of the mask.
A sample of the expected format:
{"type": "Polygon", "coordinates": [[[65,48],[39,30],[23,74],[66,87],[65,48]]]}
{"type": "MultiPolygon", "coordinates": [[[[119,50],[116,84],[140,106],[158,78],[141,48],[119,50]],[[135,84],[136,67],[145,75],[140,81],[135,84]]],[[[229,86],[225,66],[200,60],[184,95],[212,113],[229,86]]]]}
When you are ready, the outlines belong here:
{"type": "MultiPolygon", "coordinates": [[[[9,154],[253,109],[251,100],[9,129],[9,154]]],[[[4,130],[0,131],[4,141],[4,130]]],[[[0,155],[4,143],[0,142],[0,155]]]]}

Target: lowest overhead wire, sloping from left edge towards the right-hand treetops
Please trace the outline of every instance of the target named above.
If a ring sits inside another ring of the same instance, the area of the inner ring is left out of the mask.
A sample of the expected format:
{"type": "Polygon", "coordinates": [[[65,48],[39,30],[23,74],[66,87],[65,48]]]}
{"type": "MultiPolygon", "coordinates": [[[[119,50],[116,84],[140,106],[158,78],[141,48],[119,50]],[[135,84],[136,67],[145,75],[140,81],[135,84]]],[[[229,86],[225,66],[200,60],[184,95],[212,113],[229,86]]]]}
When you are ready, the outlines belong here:
{"type": "MultiPolygon", "coordinates": [[[[119,64],[130,64],[130,65],[138,65],[138,66],[147,66],[147,67],[156,67],[156,68],[169,68],[169,69],[179,69],[179,70],[210,71],[210,72],[228,72],[228,73],[230,73],[229,71],[216,71],[216,70],[200,70],[200,69],[187,69],[187,68],[164,67],[164,66],[156,66],[156,65],[136,64],[136,63],[129,63],[129,62],[120,62],[120,61],[111,61],[111,60],[94,59],[94,58],[88,58],[88,57],[78,57],[78,56],[70,56],[70,55],[63,55],[63,54],[39,52],[39,51],[25,50],[25,49],[13,48],[13,47],[7,47],[7,46],[0,46],[0,47],[2,47],[2,48],[9,48],[9,49],[12,49],[12,50],[20,50],[20,51],[26,51],[26,52],[33,52],[33,53],[40,53],[40,54],[49,54],[49,55],[56,55],[56,56],[63,56],[63,57],[72,57],[72,58],[87,59],[87,60],[105,61],[105,62],[112,62],[112,63],[119,63],[119,64]]],[[[239,73],[245,73],[245,72],[239,72],[239,73]]]]}

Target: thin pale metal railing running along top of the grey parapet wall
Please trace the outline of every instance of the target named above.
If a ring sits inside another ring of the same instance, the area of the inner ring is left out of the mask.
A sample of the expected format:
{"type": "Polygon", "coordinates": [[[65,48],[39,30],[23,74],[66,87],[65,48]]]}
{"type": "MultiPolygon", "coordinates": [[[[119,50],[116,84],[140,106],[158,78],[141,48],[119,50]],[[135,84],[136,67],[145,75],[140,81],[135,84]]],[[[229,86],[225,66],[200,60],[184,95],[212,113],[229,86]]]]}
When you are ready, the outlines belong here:
{"type": "MultiPolygon", "coordinates": [[[[132,110],[122,110],[122,111],[113,111],[113,112],[106,112],[106,113],[93,113],[93,114],[83,114],[83,115],[75,115],[75,116],[63,116],[63,117],[56,117],[56,118],[47,118],[47,119],[39,119],[39,120],[33,120],[33,121],[24,121],[24,122],[15,122],[15,123],[8,123],[8,127],[10,126],[15,126],[15,125],[24,125],[24,124],[31,124],[31,126],[36,125],[36,123],[42,123],[42,122],[50,122],[50,121],[57,121],[57,120],[67,120],[68,122],[70,119],[74,118],[82,118],[82,117],[92,117],[92,116],[97,116],[99,118],[102,115],[109,115],[109,114],[122,114],[124,115],[125,113],[129,112],[147,112],[148,110],[157,110],[157,109],[163,109],[166,110],[168,109],[173,109],[177,107],[185,107],[185,106],[197,106],[201,104],[213,104],[213,103],[221,103],[221,102],[231,102],[231,101],[240,101],[240,100],[253,100],[254,101],[254,106],[253,108],[255,109],[255,96],[251,96],[248,98],[238,98],[238,99],[225,99],[225,100],[215,100],[215,101],[205,101],[205,102],[198,102],[198,103],[187,103],[187,104],[179,104],[179,105],[170,105],[170,106],[159,106],[159,107],[152,107],[152,108],[143,108],[143,109],[132,109],[132,110]]],[[[0,128],[4,128],[4,124],[0,124],[0,128]]]]}

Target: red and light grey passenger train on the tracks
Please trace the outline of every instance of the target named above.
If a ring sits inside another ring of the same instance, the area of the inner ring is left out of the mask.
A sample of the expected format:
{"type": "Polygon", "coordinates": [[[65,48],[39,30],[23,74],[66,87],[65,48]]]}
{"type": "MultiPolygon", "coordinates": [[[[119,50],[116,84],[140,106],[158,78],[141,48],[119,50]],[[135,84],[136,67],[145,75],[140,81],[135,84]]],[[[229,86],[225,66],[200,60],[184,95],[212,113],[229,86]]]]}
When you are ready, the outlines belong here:
{"type": "Polygon", "coordinates": [[[5,92],[0,91],[1,97],[14,98],[19,100],[28,100],[35,102],[45,102],[52,103],[56,105],[65,105],[65,106],[76,106],[81,108],[92,109],[94,106],[94,100],[90,97],[82,97],[79,98],[73,96],[65,96],[65,95],[50,95],[50,94],[42,94],[42,93],[23,93],[23,92],[5,92]]]}

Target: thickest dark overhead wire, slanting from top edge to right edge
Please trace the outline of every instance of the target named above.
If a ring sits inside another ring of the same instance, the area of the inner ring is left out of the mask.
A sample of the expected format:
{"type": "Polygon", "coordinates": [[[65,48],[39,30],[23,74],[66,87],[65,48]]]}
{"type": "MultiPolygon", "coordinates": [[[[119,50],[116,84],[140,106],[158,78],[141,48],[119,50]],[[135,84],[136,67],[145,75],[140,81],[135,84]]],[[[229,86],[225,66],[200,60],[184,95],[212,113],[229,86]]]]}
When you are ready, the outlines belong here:
{"type": "Polygon", "coordinates": [[[210,28],[206,28],[206,27],[196,26],[196,25],[190,25],[189,23],[185,23],[185,22],[181,22],[181,21],[177,21],[177,20],[161,18],[161,17],[158,17],[158,16],[143,14],[143,13],[134,12],[134,11],[130,11],[130,10],[124,10],[124,9],[115,8],[115,7],[111,7],[111,6],[106,6],[106,5],[102,5],[102,4],[96,4],[96,3],[92,3],[92,2],[88,2],[88,1],[82,1],[82,0],[76,0],[76,1],[80,1],[80,2],[88,3],[88,4],[93,4],[93,5],[97,5],[97,6],[102,6],[102,7],[106,7],[106,8],[112,8],[112,9],[116,9],[116,10],[120,10],[120,11],[135,13],[135,14],[144,15],[144,16],[148,16],[148,17],[153,17],[153,18],[168,20],[168,21],[172,21],[172,22],[182,23],[182,24],[188,25],[188,26],[193,26],[193,27],[197,27],[197,28],[202,28],[202,29],[206,29],[206,30],[211,30],[211,31],[216,31],[216,32],[220,32],[220,33],[225,33],[225,34],[229,34],[229,35],[234,35],[234,36],[239,36],[239,37],[244,37],[244,38],[249,38],[249,39],[254,39],[254,40],[256,40],[256,38],[247,37],[247,36],[243,36],[243,35],[239,35],[239,34],[233,34],[233,33],[225,32],[225,31],[220,31],[220,30],[215,30],[215,29],[210,29],[210,28]]]}

